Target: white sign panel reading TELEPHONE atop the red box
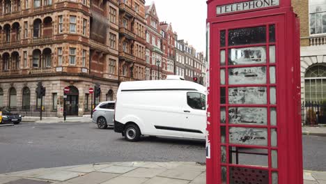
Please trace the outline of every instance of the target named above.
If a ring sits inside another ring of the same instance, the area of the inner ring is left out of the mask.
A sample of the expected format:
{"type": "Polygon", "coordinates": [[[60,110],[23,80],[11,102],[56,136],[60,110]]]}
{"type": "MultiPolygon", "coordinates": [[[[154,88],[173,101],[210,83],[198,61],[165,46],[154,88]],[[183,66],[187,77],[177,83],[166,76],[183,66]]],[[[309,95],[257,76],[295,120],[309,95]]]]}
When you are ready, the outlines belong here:
{"type": "Polygon", "coordinates": [[[241,3],[226,4],[223,6],[217,6],[217,15],[224,13],[233,13],[243,10],[255,10],[258,8],[267,8],[272,6],[279,6],[279,0],[253,0],[245,1],[241,3]]]}

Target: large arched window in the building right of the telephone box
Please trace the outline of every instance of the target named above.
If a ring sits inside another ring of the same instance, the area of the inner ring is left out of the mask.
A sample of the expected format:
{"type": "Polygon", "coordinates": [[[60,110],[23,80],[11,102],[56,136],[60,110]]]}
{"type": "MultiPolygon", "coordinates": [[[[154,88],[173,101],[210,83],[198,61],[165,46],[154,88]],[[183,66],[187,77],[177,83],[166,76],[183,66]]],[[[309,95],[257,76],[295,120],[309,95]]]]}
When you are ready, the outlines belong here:
{"type": "Polygon", "coordinates": [[[326,65],[314,65],[304,75],[306,101],[326,100],[326,65]]]}

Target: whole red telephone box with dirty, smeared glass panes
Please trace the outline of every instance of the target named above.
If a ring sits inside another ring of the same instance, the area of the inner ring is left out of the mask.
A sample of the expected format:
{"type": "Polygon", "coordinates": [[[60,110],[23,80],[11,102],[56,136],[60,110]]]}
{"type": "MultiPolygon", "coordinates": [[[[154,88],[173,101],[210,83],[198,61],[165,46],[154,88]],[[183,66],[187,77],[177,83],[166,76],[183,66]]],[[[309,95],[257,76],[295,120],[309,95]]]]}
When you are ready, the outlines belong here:
{"type": "Polygon", "coordinates": [[[208,184],[302,184],[290,0],[208,1],[208,184]]]}

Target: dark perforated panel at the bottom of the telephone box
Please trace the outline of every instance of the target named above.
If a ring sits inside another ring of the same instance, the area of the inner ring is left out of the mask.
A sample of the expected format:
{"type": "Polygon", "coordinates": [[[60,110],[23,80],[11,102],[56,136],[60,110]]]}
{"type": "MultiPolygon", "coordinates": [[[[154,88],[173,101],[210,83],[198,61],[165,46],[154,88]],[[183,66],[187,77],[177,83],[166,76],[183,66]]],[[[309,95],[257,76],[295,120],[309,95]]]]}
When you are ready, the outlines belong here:
{"type": "Polygon", "coordinates": [[[232,184],[267,184],[268,181],[266,170],[230,167],[230,183],[232,184]]]}

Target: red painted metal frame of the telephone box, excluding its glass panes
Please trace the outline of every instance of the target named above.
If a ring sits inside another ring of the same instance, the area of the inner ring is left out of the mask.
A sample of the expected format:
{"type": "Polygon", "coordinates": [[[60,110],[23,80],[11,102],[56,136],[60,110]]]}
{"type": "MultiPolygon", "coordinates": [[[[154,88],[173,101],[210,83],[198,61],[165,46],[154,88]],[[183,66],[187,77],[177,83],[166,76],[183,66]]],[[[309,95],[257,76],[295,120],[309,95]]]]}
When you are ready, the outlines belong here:
{"type": "Polygon", "coordinates": [[[272,171],[277,171],[279,184],[302,184],[302,136],[300,121],[300,29],[299,23],[290,7],[290,1],[280,1],[279,8],[236,13],[234,15],[216,16],[216,6],[243,0],[208,1],[208,23],[210,23],[210,86],[208,87],[208,141],[210,142],[210,155],[207,159],[207,183],[221,182],[221,167],[227,168],[227,184],[229,183],[229,167],[246,167],[252,169],[265,169],[269,171],[272,183],[272,171]],[[269,26],[275,25],[275,43],[269,43],[269,26]],[[267,42],[263,44],[241,45],[228,47],[228,30],[254,26],[266,26],[267,42]],[[225,47],[219,45],[219,33],[225,30],[225,47]],[[270,63],[270,45],[276,45],[276,62],[270,63]],[[238,47],[266,47],[266,63],[257,65],[228,66],[228,49],[238,47]],[[224,66],[220,66],[220,50],[225,50],[224,66]],[[266,84],[228,85],[228,68],[266,67],[266,84]],[[276,84],[270,84],[270,66],[276,68],[276,84]],[[219,71],[225,69],[225,85],[220,84],[219,71]],[[267,88],[266,105],[229,105],[228,88],[243,86],[264,86],[267,88]],[[226,89],[226,104],[220,104],[220,87],[226,89]],[[270,105],[270,87],[276,87],[277,104],[270,105]],[[220,123],[220,108],[225,107],[226,123],[220,123]],[[234,125],[228,123],[228,107],[266,107],[267,125],[234,125]],[[277,125],[270,125],[270,108],[277,109],[277,125]],[[226,129],[226,143],[220,139],[220,127],[226,129]],[[267,146],[249,146],[229,144],[228,128],[267,128],[267,146]],[[271,146],[271,129],[277,130],[277,147],[271,146]],[[221,163],[221,146],[226,146],[226,163],[221,163]],[[245,148],[264,148],[268,150],[268,167],[254,167],[239,164],[229,164],[228,148],[238,146],[245,148]],[[271,151],[278,151],[278,169],[272,168],[271,151]]]}

